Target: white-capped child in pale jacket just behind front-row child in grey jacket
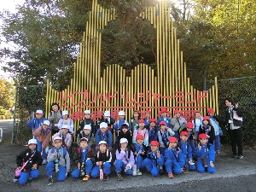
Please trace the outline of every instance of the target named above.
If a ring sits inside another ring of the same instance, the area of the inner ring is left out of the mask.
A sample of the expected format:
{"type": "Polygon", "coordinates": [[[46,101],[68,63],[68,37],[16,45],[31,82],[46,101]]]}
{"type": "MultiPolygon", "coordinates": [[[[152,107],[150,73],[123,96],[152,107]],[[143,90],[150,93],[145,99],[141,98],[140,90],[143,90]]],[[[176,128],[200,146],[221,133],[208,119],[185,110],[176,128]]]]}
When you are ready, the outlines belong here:
{"type": "Polygon", "coordinates": [[[60,131],[53,135],[52,140],[54,140],[55,137],[61,137],[63,148],[67,148],[67,151],[71,153],[72,135],[68,133],[68,128],[68,125],[62,125],[60,131]]]}

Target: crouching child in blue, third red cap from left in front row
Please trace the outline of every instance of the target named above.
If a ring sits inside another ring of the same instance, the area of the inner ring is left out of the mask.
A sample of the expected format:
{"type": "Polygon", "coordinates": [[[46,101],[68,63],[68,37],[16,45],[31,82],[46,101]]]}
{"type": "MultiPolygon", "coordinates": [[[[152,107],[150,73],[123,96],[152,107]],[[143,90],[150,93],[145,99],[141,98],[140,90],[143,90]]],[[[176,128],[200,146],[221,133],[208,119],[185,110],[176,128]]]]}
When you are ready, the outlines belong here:
{"type": "Polygon", "coordinates": [[[185,166],[185,159],[183,157],[183,152],[177,147],[177,138],[169,138],[169,146],[165,150],[166,157],[166,172],[168,172],[168,177],[173,178],[173,174],[181,174],[183,172],[183,166],[185,166]]]}

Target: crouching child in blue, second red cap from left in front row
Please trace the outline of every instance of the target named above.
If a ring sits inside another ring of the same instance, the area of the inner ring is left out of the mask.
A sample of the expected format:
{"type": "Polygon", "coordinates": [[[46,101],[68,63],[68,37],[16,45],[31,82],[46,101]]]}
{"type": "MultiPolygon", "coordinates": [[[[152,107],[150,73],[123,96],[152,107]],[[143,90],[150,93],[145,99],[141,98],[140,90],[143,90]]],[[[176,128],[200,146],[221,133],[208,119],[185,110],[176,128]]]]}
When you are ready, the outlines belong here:
{"type": "Polygon", "coordinates": [[[154,177],[158,177],[163,174],[164,156],[160,153],[159,143],[152,141],[150,143],[150,149],[148,150],[147,158],[144,160],[146,169],[154,177]]]}

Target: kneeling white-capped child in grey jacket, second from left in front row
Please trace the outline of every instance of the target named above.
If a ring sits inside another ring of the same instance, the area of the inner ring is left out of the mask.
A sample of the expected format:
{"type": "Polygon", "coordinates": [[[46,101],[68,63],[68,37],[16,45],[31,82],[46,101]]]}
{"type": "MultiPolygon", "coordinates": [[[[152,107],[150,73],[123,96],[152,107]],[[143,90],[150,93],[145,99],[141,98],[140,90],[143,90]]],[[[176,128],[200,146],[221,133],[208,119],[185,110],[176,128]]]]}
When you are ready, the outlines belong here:
{"type": "Polygon", "coordinates": [[[46,175],[49,178],[48,185],[53,184],[52,173],[57,172],[57,181],[64,181],[70,170],[70,158],[67,149],[62,147],[61,137],[55,137],[53,141],[54,148],[48,153],[46,175]]]}

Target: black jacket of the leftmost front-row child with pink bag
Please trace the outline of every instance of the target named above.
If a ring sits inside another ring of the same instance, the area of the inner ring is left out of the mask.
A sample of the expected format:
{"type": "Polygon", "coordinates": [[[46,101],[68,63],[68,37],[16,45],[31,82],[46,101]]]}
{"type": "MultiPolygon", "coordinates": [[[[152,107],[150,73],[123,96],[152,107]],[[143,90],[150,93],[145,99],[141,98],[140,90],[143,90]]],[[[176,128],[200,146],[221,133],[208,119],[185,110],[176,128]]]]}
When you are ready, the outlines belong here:
{"type": "Polygon", "coordinates": [[[41,156],[41,153],[38,152],[38,150],[32,151],[29,148],[26,148],[26,150],[21,151],[19,155],[16,157],[16,164],[17,166],[23,166],[24,163],[26,163],[26,160],[28,160],[32,156],[32,159],[27,162],[25,168],[23,169],[23,172],[30,172],[32,171],[32,166],[34,164],[38,164],[38,166],[41,166],[43,163],[43,159],[41,156]],[[32,154],[35,152],[35,154],[32,156],[32,154]]]}

